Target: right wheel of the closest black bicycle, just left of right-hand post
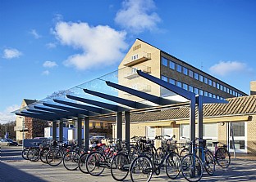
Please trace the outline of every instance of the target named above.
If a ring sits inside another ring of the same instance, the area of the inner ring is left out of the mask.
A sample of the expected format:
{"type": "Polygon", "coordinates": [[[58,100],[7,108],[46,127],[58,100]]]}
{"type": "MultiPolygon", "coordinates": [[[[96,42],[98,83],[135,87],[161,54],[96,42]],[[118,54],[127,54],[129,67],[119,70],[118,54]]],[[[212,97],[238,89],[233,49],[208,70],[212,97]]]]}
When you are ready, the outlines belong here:
{"type": "Polygon", "coordinates": [[[181,172],[181,158],[178,153],[171,152],[166,158],[166,172],[167,176],[171,179],[176,179],[176,177],[181,172]]]}

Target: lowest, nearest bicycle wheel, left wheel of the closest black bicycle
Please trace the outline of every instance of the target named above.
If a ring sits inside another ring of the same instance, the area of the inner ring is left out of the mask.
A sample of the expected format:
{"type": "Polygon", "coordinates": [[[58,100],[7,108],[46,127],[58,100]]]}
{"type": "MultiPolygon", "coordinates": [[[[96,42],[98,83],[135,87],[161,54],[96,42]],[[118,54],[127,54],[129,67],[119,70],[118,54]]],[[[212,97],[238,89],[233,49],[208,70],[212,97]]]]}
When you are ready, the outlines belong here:
{"type": "Polygon", "coordinates": [[[130,179],[135,181],[149,181],[153,174],[153,166],[149,157],[139,156],[131,163],[130,179]]]}

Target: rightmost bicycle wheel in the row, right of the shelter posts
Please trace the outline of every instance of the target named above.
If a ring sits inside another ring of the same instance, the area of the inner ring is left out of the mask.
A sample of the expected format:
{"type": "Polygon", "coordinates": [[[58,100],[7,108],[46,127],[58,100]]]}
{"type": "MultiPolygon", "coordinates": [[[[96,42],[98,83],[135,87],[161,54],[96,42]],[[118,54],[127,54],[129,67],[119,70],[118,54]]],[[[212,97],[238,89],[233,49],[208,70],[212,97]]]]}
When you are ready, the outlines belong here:
{"type": "Polygon", "coordinates": [[[226,148],[219,148],[215,153],[215,160],[219,166],[226,168],[231,164],[231,153],[226,148]]]}

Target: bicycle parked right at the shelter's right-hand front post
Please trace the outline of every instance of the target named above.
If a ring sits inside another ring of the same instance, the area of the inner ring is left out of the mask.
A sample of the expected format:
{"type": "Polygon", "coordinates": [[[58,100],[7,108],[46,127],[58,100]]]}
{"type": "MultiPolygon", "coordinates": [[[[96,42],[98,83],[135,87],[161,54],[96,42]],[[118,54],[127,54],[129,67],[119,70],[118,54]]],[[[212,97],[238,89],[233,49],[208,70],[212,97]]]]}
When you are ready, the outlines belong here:
{"type": "Polygon", "coordinates": [[[215,171],[215,162],[212,153],[204,146],[198,146],[195,141],[204,142],[206,140],[195,139],[190,142],[191,153],[185,155],[181,160],[181,173],[188,181],[199,181],[203,176],[203,168],[208,175],[213,175],[215,171]],[[196,155],[196,151],[202,154],[202,158],[196,155]]]}

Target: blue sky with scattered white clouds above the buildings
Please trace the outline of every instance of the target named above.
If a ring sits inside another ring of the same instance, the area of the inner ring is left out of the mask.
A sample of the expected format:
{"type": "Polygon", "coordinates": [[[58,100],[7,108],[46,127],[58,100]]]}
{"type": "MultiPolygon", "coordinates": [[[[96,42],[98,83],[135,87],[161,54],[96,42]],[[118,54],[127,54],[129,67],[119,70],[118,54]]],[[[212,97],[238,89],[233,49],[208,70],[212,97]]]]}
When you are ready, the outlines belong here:
{"type": "Polygon", "coordinates": [[[256,2],[0,2],[0,122],[22,99],[41,100],[117,70],[136,38],[249,94],[256,76],[256,2]]]}

